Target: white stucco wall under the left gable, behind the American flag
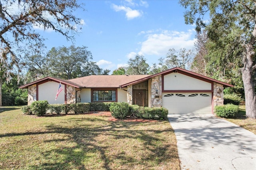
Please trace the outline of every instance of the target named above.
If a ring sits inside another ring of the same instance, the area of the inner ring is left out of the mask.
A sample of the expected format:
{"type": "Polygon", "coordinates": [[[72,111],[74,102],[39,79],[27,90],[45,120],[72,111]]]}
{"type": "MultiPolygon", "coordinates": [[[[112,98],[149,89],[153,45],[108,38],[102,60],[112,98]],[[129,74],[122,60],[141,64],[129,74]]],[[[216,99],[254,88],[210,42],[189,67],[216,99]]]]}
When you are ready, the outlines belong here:
{"type": "Polygon", "coordinates": [[[47,100],[49,104],[64,104],[65,103],[65,85],[62,84],[63,90],[60,92],[57,100],[56,93],[59,88],[57,82],[45,82],[38,85],[38,100],[47,100]]]}

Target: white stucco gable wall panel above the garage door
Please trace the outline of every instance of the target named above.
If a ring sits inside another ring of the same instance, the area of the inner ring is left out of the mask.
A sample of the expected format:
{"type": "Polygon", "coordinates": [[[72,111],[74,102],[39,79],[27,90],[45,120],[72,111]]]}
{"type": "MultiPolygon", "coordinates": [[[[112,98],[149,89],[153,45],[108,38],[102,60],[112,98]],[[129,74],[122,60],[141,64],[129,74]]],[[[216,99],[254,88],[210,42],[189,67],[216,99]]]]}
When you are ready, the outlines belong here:
{"type": "Polygon", "coordinates": [[[164,75],[164,90],[211,90],[212,84],[180,73],[164,75]]]}

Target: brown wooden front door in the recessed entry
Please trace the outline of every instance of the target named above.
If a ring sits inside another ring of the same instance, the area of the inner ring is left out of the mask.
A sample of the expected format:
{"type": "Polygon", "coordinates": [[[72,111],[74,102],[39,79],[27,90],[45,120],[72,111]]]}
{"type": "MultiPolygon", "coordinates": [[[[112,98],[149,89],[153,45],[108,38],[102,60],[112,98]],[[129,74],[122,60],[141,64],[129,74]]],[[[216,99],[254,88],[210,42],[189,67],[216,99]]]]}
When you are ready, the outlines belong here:
{"type": "Polygon", "coordinates": [[[133,90],[132,94],[133,94],[132,104],[142,106],[142,107],[148,106],[146,90],[133,90]]]}

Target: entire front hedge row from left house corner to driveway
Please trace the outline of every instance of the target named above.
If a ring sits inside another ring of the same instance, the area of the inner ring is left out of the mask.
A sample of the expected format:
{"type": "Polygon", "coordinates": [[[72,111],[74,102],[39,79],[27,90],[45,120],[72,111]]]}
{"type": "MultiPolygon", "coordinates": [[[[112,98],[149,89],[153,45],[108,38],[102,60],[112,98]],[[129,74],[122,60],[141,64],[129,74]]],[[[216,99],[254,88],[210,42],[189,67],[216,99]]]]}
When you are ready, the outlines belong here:
{"type": "Polygon", "coordinates": [[[140,107],[129,105],[126,102],[99,102],[99,103],[76,103],[76,104],[48,104],[46,100],[35,101],[30,106],[22,106],[25,114],[45,115],[46,113],[84,113],[88,111],[110,111],[115,118],[124,119],[126,116],[135,114],[138,118],[162,120],[166,119],[168,109],[164,107],[140,107]]]}

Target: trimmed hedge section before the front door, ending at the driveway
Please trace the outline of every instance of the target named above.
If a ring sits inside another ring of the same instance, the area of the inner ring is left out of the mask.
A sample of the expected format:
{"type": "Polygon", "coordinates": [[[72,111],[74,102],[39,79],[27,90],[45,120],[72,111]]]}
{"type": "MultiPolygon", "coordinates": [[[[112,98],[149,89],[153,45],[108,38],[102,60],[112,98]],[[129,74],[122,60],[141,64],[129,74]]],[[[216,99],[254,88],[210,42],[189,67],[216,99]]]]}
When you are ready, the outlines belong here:
{"type": "Polygon", "coordinates": [[[162,120],[166,119],[168,109],[164,107],[140,107],[137,105],[129,105],[126,102],[113,102],[110,104],[111,115],[115,118],[123,119],[133,113],[138,118],[162,120]]]}

